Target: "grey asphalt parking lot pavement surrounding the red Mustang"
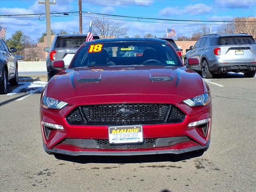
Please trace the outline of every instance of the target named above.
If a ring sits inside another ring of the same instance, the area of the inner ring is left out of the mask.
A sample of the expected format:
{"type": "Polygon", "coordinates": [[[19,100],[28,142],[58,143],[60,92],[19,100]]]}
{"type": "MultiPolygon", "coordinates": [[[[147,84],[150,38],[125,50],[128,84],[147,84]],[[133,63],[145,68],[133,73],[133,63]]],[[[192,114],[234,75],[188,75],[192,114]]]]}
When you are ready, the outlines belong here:
{"type": "Polygon", "coordinates": [[[207,152],[190,159],[186,159],[189,155],[56,159],[42,148],[40,94],[20,101],[15,100],[24,95],[0,96],[0,189],[253,192],[256,79],[242,77],[231,75],[208,83],[213,104],[212,141],[207,152]]]}

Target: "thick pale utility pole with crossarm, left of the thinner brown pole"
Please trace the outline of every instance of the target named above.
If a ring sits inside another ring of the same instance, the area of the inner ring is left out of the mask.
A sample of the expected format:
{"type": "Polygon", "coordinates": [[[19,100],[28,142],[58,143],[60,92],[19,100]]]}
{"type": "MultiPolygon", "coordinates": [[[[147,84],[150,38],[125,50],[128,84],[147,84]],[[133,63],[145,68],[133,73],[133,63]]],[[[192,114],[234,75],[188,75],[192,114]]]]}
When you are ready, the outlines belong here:
{"type": "Polygon", "coordinates": [[[52,45],[52,32],[51,32],[50,4],[55,5],[56,2],[55,2],[55,0],[53,2],[50,2],[50,0],[44,0],[44,2],[39,0],[38,4],[45,4],[47,46],[51,47],[51,45],[52,45]]]}

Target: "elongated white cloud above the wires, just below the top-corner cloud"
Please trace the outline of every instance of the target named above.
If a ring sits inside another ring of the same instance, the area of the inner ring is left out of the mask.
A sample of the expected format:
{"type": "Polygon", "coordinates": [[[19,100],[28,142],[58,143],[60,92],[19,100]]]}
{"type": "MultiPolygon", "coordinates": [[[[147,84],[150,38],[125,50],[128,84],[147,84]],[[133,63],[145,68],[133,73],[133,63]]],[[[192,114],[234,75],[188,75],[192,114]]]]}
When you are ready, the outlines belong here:
{"type": "Polygon", "coordinates": [[[200,15],[214,12],[211,7],[206,4],[194,4],[185,6],[184,9],[181,9],[179,6],[175,7],[166,7],[160,10],[159,14],[163,16],[171,16],[171,15],[200,15]]]}

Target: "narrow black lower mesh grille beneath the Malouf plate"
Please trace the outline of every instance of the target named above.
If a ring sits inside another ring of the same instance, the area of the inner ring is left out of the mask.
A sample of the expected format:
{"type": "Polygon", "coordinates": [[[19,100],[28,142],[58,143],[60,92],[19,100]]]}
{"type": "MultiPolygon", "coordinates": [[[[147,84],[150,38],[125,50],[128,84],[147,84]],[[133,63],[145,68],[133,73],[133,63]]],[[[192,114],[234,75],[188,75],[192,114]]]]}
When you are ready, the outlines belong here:
{"type": "Polygon", "coordinates": [[[96,140],[99,148],[122,149],[122,148],[150,148],[156,146],[156,139],[144,139],[141,143],[110,144],[107,139],[96,140]]]}

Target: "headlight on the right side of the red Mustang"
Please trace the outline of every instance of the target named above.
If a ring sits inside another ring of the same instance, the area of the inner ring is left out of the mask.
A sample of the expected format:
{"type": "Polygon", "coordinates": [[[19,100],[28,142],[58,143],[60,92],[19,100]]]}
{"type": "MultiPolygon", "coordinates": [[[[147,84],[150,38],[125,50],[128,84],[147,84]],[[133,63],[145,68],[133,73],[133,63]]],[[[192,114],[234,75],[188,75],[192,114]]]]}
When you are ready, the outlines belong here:
{"type": "Polygon", "coordinates": [[[208,93],[204,93],[202,95],[195,96],[191,99],[184,100],[183,102],[190,107],[206,106],[211,102],[211,98],[208,93]]]}

